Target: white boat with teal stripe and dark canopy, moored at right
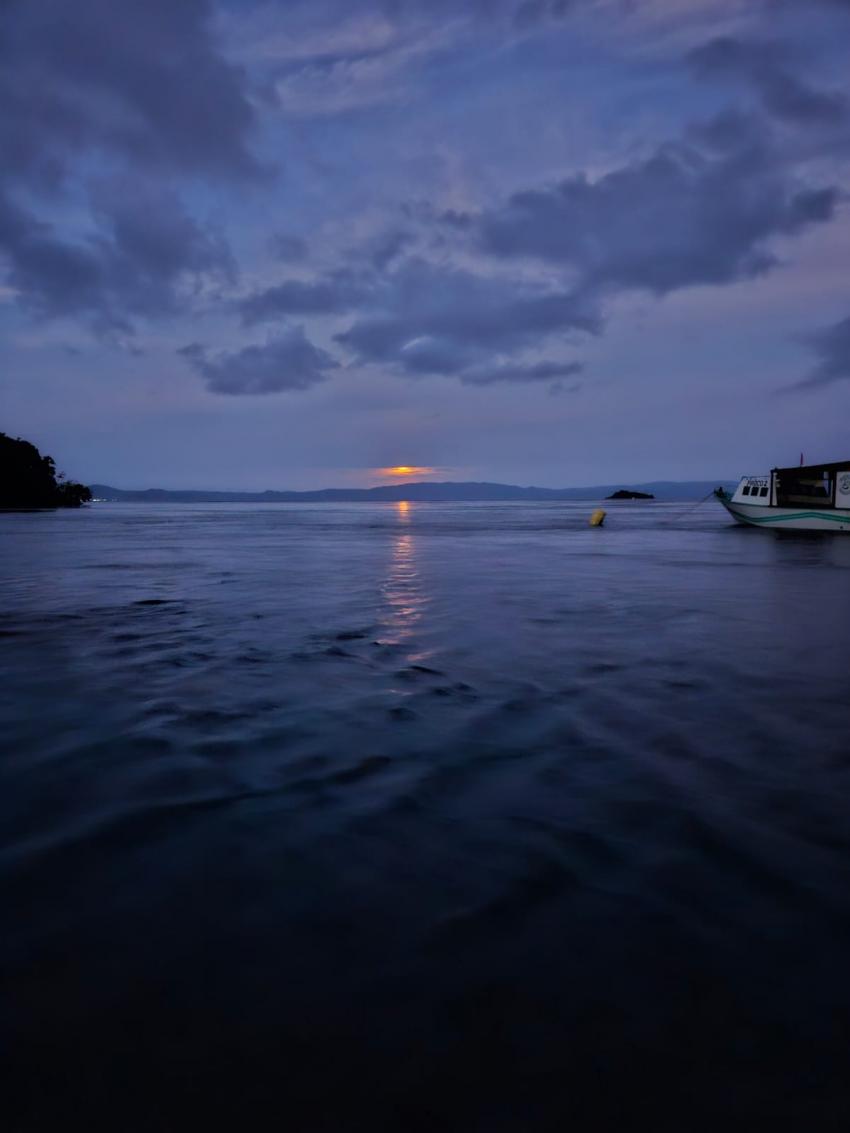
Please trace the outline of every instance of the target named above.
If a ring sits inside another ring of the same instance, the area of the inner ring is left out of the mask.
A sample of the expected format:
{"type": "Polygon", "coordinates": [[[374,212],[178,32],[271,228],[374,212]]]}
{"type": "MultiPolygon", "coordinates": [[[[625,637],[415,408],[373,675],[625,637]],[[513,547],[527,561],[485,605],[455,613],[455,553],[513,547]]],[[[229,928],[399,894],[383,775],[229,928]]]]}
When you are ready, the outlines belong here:
{"type": "Polygon", "coordinates": [[[739,523],[793,531],[850,531],[850,460],[742,476],[715,496],[739,523]]]}

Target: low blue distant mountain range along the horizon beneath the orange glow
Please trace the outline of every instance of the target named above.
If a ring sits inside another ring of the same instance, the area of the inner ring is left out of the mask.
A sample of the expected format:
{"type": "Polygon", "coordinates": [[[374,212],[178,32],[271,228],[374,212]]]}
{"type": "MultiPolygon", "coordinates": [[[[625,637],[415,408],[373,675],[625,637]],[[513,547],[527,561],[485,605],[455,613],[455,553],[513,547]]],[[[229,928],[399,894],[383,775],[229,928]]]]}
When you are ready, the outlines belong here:
{"type": "Polygon", "coordinates": [[[96,500],[136,503],[394,503],[399,500],[439,503],[486,500],[604,500],[627,488],[646,492],[656,500],[702,500],[715,487],[732,488],[737,480],[653,480],[649,484],[602,484],[586,488],[517,487],[515,484],[454,484],[417,482],[376,488],[321,488],[317,492],[182,492],[165,488],[126,491],[92,484],[96,500]]]}

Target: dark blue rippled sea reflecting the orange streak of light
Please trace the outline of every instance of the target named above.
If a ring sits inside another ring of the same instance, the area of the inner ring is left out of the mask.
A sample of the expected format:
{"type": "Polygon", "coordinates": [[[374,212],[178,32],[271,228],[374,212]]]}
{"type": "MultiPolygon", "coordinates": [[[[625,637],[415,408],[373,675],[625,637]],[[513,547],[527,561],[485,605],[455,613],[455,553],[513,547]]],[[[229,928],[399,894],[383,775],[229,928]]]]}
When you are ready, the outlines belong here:
{"type": "Polygon", "coordinates": [[[9,1133],[845,1131],[850,538],[0,516],[9,1133]]]}

